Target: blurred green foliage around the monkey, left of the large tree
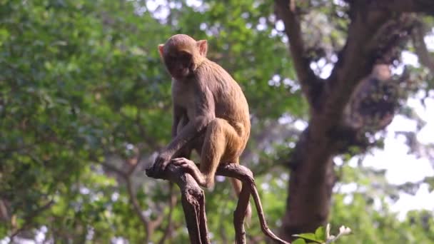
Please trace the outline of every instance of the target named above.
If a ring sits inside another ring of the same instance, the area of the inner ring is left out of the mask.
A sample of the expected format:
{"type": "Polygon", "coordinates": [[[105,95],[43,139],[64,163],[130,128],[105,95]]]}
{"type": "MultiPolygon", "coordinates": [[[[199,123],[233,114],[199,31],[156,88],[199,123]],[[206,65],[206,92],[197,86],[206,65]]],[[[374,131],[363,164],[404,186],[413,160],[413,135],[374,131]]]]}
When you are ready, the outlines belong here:
{"type": "MultiPolygon", "coordinates": [[[[268,37],[271,26],[254,28],[271,5],[252,3],[231,1],[231,11],[218,2],[206,11],[183,3],[171,9],[173,24],[166,25],[151,11],[137,14],[146,5],[131,1],[1,1],[0,192],[8,216],[0,237],[45,226],[47,238],[59,241],[146,238],[123,179],[100,164],[123,170],[136,149],[151,157],[168,142],[171,83],[156,47],[178,31],[208,39],[210,58],[240,81],[254,116],[277,118],[296,108],[305,113],[297,91],[283,99],[288,87],[268,85],[276,73],[295,76],[286,45],[268,37]],[[207,34],[213,28],[218,35],[207,34]]],[[[165,184],[141,172],[133,182],[149,220],[167,215],[165,184]]],[[[223,189],[210,194],[207,208],[216,211],[208,218],[220,218],[210,221],[211,231],[225,230],[231,238],[227,220],[235,198],[223,189]],[[226,208],[216,204],[222,200],[226,208]]],[[[151,240],[161,238],[166,224],[151,240]]],[[[183,225],[177,206],[176,240],[188,238],[183,225]]]]}

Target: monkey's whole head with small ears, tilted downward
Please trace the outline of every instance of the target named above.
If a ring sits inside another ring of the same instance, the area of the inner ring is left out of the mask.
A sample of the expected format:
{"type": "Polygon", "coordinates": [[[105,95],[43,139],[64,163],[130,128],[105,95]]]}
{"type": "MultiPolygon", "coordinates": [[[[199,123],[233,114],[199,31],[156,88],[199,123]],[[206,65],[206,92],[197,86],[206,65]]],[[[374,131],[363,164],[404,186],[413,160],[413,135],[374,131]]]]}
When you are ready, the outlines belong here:
{"type": "Polygon", "coordinates": [[[160,56],[168,73],[178,80],[191,76],[205,59],[208,51],[206,40],[196,41],[190,36],[177,34],[171,36],[166,44],[158,45],[160,56]]]}

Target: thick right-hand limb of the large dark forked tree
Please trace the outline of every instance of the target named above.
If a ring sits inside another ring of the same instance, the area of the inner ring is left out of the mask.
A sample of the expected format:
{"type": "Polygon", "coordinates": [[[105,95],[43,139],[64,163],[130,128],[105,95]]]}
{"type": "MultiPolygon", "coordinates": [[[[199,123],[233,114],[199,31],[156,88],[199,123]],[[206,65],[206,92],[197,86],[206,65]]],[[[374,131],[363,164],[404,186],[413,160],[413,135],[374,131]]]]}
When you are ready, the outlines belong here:
{"type": "Polygon", "coordinates": [[[398,41],[408,36],[407,26],[403,29],[402,24],[410,22],[410,18],[392,18],[390,12],[373,10],[372,6],[363,4],[354,4],[350,9],[352,21],[346,44],[338,54],[338,62],[321,94],[323,109],[318,119],[321,126],[313,128],[327,128],[339,123],[343,108],[356,86],[370,74],[377,61],[383,59],[398,41]],[[324,125],[323,118],[328,118],[330,124],[324,125]]]}

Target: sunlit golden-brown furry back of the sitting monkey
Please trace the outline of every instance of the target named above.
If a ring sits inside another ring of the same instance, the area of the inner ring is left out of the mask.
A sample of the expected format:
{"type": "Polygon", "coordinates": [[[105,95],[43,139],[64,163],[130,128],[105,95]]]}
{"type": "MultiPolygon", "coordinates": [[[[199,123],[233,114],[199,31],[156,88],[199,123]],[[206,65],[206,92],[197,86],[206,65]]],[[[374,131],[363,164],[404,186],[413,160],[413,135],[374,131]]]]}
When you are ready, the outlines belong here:
{"type": "Polygon", "coordinates": [[[224,68],[208,59],[197,68],[196,76],[213,93],[216,117],[228,121],[247,142],[251,123],[247,99],[241,86],[224,68]]]}

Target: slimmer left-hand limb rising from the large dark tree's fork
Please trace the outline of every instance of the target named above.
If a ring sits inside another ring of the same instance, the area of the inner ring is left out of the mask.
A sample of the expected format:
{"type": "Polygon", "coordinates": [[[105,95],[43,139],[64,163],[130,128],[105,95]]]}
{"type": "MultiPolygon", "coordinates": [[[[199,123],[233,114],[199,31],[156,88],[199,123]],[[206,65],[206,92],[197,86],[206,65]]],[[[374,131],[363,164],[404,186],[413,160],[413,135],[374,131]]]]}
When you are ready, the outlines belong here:
{"type": "Polygon", "coordinates": [[[301,33],[300,19],[296,15],[294,1],[276,0],[276,12],[283,24],[285,24],[285,33],[289,39],[289,49],[291,57],[296,68],[298,80],[301,83],[301,89],[308,101],[313,103],[316,92],[320,88],[318,77],[311,69],[311,60],[308,58],[301,33]],[[292,4],[292,6],[291,6],[292,4]]]}

